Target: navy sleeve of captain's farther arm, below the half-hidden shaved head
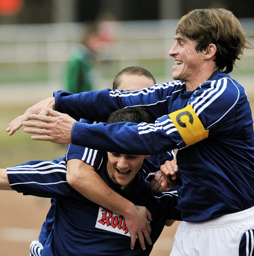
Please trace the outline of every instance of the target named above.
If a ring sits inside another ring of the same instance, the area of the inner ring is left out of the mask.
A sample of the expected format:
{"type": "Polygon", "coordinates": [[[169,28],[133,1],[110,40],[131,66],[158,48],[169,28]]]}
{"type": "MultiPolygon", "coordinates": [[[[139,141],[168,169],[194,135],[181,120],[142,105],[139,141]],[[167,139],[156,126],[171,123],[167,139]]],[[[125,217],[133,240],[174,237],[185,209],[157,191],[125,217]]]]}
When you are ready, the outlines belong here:
{"type": "MultiPolygon", "coordinates": [[[[172,86],[171,86],[172,88],[172,86]]],[[[71,116],[105,121],[107,116],[124,107],[146,106],[152,116],[158,118],[167,113],[168,86],[156,85],[140,91],[128,92],[104,89],[73,94],[66,91],[54,92],[56,110],[71,116]]]]}

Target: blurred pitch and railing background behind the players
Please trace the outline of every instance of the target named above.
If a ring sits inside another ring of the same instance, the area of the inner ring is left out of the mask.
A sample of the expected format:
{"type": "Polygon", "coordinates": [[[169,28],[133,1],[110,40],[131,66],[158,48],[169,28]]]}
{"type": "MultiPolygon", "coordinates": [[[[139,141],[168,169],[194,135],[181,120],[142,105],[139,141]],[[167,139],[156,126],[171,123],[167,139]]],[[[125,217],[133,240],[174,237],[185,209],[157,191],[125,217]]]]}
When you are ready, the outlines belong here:
{"type": "MultiPolygon", "coordinates": [[[[237,16],[254,45],[253,0],[0,0],[0,167],[57,159],[66,145],[31,141],[22,129],[5,129],[27,107],[66,88],[71,54],[91,24],[98,47],[89,77],[92,89],[112,87],[122,68],[142,66],[158,83],[171,80],[178,19],[194,8],[223,7],[237,16]]],[[[246,50],[231,76],[246,89],[254,109],[254,50],[246,50]]],[[[252,111],[253,112],[253,111],[252,111]]],[[[37,240],[50,201],[0,192],[0,256],[27,256],[37,240]]],[[[169,255],[179,223],[166,227],[151,255],[169,255]]]]}

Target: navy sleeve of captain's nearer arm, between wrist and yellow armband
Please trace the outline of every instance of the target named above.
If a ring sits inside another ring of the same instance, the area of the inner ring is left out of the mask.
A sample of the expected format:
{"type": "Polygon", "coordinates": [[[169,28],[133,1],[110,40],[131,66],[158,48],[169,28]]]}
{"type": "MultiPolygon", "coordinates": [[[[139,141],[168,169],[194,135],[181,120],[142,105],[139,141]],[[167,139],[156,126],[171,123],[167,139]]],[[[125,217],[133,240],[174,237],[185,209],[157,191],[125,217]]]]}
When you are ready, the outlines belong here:
{"type": "Polygon", "coordinates": [[[139,125],[133,123],[88,125],[75,122],[71,131],[71,142],[102,151],[130,155],[159,154],[177,147],[164,128],[158,129],[159,123],[145,126],[147,130],[143,132],[139,125]]]}

